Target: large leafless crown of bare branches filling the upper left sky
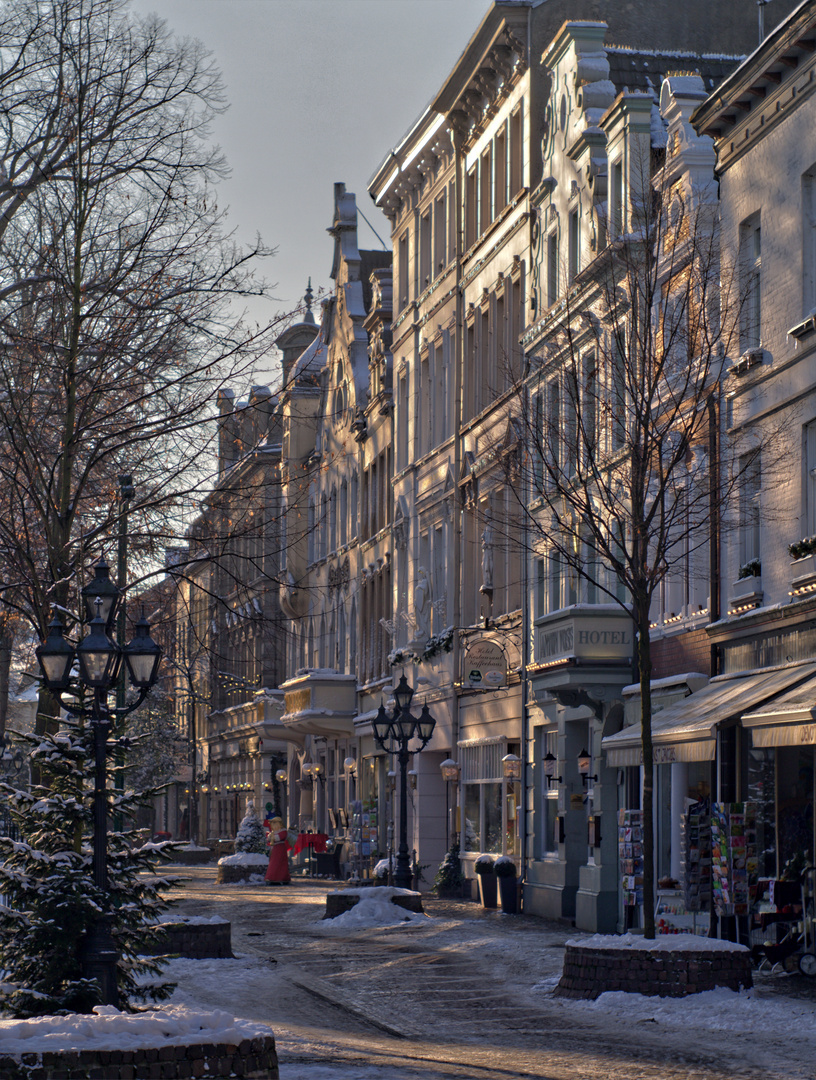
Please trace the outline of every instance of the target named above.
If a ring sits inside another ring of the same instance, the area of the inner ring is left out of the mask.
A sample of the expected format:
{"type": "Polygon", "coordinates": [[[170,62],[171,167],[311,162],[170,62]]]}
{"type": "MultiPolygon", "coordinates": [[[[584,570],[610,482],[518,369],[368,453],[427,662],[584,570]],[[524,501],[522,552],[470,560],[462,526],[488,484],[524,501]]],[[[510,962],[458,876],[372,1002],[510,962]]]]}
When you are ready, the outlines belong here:
{"type": "MultiPolygon", "coordinates": [[[[0,28],[0,566],[3,600],[42,635],[121,526],[154,557],[210,460],[215,397],[273,326],[271,252],[237,249],[207,141],[223,107],[201,46],[111,0],[24,0],[0,28]]],[[[280,326],[277,327],[280,329],[280,326]]]]}

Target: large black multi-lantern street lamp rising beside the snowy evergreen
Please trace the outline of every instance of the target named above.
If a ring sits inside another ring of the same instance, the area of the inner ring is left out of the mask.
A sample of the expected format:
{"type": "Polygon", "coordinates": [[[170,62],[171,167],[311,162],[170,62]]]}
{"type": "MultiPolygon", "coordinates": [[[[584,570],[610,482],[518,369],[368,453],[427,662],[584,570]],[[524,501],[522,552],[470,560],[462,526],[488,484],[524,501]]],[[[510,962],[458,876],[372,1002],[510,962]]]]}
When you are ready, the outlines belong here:
{"type": "MultiPolygon", "coordinates": [[[[37,649],[43,681],[63,708],[74,716],[87,716],[94,732],[94,885],[106,899],[108,892],[108,804],[106,795],[106,756],[111,720],[127,716],[141,704],[159,674],[162,650],[150,637],[150,624],[142,616],[132,642],[121,647],[110,638],[121,592],[110,580],[104,559],[83,590],[89,633],[76,647],[65,638],[58,615],[49,635],[37,649]],[[114,708],[108,706],[108,693],[117,687],[124,662],[131,685],[138,691],[135,701],[114,708]],[[74,663],[79,672],[74,673],[74,663]],[[92,691],[92,704],[85,705],[92,691]]],[[[119,955],[110,933],[110,915],[98,919],[89,932],[83,948],[83,968],[87,978],[95,978],[103,1002],[119,1003],[117,962],[119,955]]]]}

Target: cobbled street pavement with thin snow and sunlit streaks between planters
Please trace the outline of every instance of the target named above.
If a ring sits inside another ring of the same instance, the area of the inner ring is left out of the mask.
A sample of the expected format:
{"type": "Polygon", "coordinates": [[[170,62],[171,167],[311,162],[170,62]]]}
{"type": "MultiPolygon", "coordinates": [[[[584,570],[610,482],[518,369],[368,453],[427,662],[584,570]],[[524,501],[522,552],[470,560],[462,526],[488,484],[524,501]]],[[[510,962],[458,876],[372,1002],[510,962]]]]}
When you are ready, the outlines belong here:
{"type": "MultiPolygon", "coordinates": [[[[213,867],[180,873],[181,912],[229,919],[247,970],[240,1000],[223,1000],[217,980],[180,990],[270,1024],[282,1080],[816,1078],[816,1063],[791,1057],[792,1030],[701,1039],[570,1010],[542,989],[574,933],[559,923],[423,897],[426,923],[327,934],[330,882],[223,887],[213,867]]],[[[787,982],[816,1000],[816,983],[787,982]]],[[[762,987],[785,993],[779,981],[762,987]]]]}

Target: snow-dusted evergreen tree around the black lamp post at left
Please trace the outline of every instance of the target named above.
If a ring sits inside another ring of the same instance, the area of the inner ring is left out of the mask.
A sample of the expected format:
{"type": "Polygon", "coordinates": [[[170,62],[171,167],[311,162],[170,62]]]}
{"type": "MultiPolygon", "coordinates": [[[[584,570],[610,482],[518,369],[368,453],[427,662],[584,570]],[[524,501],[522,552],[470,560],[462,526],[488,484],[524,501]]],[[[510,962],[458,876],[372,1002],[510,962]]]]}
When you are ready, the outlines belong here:
{"type": "MultiPolygon", "coordinates": [[[[108,834],[108,896],[93,872],[94,735],[91,725],[67,719],[55,734],[19,733],[28,743],[32,770],[43,785],[30,791],[0,785],[18,838],[0,837],[0,1008],[15,1016],[90,1012],[100,1003],[99,987],[83,975],[87,931],[106,912],[120,959],[120,1005],[161,1000],[172,984],[160,981],[157,960],[146,950],[157,941],[157,919],[167,906],[161,890],[172,882],[146,878],[162,845],[141,843],[135,834],[108,834]],[[47,785],[47,786],[45,786],[47,785]]],[[[111,740],[108,805],[125,822],[147,795],[114,791],[114,752],[127,740],[111,740]]],[[[126,766],[120,767],[125,768],[126,766]]]]}

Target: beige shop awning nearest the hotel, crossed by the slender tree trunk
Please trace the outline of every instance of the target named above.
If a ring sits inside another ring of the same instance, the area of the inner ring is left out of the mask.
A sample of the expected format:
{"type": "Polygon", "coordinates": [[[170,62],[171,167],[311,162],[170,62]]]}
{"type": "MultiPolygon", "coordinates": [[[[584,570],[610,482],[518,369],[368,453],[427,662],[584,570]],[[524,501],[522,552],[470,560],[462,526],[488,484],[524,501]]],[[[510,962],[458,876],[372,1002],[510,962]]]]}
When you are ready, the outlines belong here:
{"type": "MultiPolygon", "coordinates": [[[[749,710],[810,679],[816,681],[816,664],[712,678],[702,690],[652,717],[655,764],[712,760],[719,724],[744,716],[749,710]]],[[[607,765],[613,768],[640,765],[640,725],[633,724],[614,735],[607,735],[602,746],[607,765]]]]}

